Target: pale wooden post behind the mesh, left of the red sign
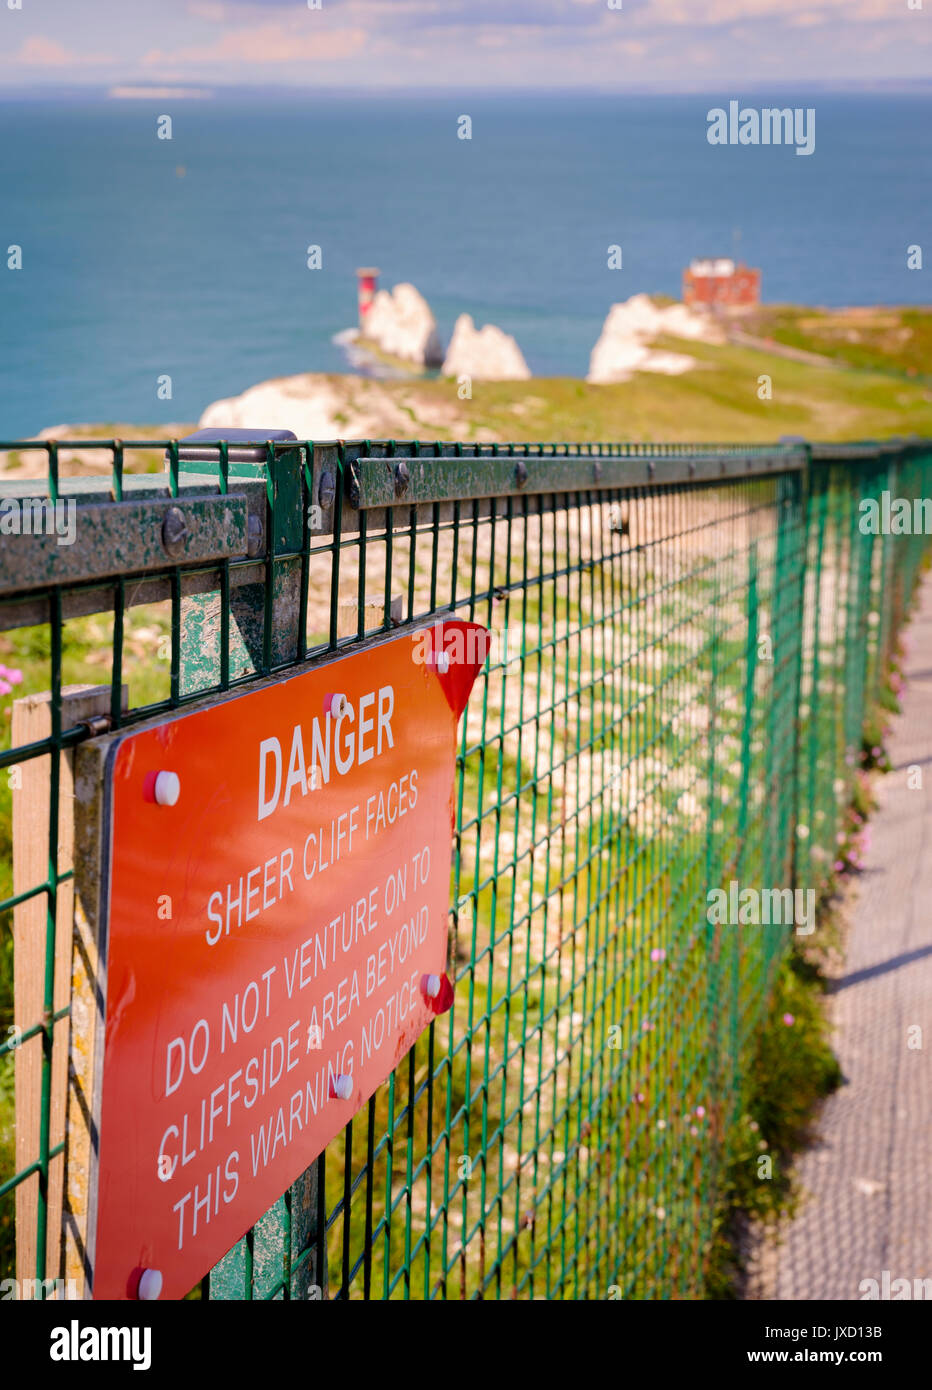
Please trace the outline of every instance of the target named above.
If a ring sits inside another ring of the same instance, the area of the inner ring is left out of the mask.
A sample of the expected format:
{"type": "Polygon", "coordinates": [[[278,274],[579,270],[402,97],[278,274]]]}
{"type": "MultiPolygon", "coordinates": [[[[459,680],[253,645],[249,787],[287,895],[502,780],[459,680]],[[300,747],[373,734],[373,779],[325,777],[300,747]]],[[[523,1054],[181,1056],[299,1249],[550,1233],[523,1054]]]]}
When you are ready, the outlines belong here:
{"type": "MultiPolygon", "coordinates": [[[[61,728],[110,712],[108,685],[65,685],[61,692],[61,728]]],[[[13,746],[32,744],[51,734],[51,696],[26,695],[13,703],[13,746]]],[[[49,817],[51,809],[51,759],[32,758],[17,767],[13,791],[13,891],[28,892],[49,877],[49,817]]],[[[58,773],[58,874],[74,867],[74,753],[61,753],[58,773]]],[[[53,1012],[71,998],[71,942],[74,883],[58,885],[54,929],[53,1012]]],[[[43,1022],[49,895],[39,892],[13,912],[14,1022],[24,1033],[43,1022]]],[[[43,1034],[22,1042],[15,1054],[17,1172],[39,1158],[42,1123],[43,1034]]],[[[68,1019],[53,1029],[49,1148],[61,1144],[65,1131],[68,1084],[68,1019]]],[[[44,1262],[38,1251],[39,1173],[17,1187],[17,1279],[58,1279],[63,1273],[61,1194],[64,1154],[49,1163],[47,1238],[44,1262]]]]}

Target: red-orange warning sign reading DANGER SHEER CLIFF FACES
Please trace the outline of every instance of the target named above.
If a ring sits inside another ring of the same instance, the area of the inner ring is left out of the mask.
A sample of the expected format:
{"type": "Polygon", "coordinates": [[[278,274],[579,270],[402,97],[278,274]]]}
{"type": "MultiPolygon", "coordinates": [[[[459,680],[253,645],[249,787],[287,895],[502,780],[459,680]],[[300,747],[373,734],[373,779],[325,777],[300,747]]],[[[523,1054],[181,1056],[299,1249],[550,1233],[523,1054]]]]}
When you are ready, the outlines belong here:
{"type": "Polygon", "coordinates": [[[449,1008],[447,621],[108,751],[94,1298],[179,1298],[449,1008]]]}

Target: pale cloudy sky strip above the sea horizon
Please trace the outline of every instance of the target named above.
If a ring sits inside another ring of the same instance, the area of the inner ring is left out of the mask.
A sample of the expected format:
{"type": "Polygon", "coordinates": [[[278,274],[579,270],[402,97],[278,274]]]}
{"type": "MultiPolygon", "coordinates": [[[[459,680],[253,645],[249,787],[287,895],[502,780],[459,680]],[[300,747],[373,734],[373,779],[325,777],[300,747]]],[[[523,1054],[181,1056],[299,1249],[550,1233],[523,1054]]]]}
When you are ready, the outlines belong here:
{"type": "Polygon", "coordinates": [[[932,78],[932,0],[0,0],[0,90],[932,78]]]}

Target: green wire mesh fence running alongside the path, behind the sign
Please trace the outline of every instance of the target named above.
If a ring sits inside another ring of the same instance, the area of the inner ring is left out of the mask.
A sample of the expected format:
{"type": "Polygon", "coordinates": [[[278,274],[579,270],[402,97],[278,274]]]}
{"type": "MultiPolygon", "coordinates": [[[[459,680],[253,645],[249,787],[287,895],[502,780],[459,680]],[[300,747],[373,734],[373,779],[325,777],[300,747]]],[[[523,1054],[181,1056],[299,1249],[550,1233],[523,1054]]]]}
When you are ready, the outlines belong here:
{"type": "Polygon", "coordinates": [[[928,549],[867,532],[858,505],[932,496],[932,443],[0,453],[0,499],[74,502],[78,539],[0,527],[0,657],[24,671],[14,694],[51,692],[46,724],[14,716],[0,751],[7,855],[11,770],[42,767],[49,787],[31,877],[7,862],[0,881],[10,1269],[18,1204],[21,1277],[60,1272],[71,751],[460,616],[493,645],[457,763],[454,1008],[194,1294],[701,1297],[792,940],[710,923],[708,894],[831,883],[928,549]],[[165,473],[133,471],[163,456],[165,473]],[[18,481],[40,463],[42,482],[18,481]],[[106,687],[82,696],[93,714],[69,714],[74,682],[106,687]],[[29,933],[42,948],[15,1020],[14,926],[18,949],[29,933]],[[40,1076],[15,1144],[14,1062],[40,1076]]]}

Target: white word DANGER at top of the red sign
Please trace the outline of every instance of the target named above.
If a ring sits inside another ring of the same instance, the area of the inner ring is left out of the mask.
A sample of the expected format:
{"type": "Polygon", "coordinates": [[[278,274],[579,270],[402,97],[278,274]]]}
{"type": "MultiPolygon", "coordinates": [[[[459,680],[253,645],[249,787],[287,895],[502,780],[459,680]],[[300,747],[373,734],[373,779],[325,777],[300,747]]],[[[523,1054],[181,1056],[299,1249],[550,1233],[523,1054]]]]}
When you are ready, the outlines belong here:
{"type": "MultiPolygon", "coordinates": [[[[310,724],[310,738],[306,741],[301,724],[294,724],[290,734],[288,774],[282,795],[283,748],[276,735],[264,738],[258,745],[258,820],[265,820],[274,810],[290,803],[292,795],[300,788],[301,796],[319,785],[328,785],[331,771],[344,777],[354,764],[371,762],[383,751],[394,746],[392,737],[392,713],[394,710],[394,689],[382,685],[378,691],[360,695],[357,705],[342,695],[331,696],[329,708],[315,714],[310,724]],[[310,748],[311,762],[306,749],[310,748]]],[[[286,739],[288,741],[288,739],[286,739]]]]}

